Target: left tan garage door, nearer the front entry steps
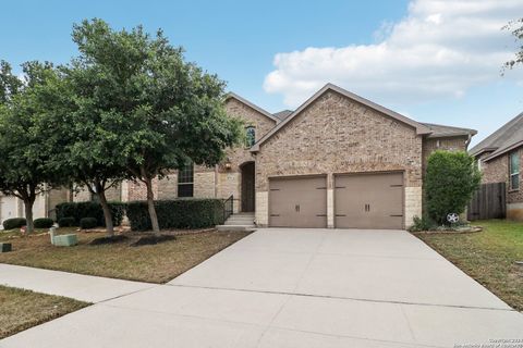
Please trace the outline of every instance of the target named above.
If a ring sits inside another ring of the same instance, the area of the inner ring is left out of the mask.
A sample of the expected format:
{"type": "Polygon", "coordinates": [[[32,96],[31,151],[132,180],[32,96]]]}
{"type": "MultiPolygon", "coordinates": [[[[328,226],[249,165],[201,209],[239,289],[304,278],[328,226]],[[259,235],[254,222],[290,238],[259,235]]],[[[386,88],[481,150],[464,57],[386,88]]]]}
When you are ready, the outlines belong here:
{"type": "Polygon", "coordinates": [[[327,227],[326,177],[270,178],[269,225],[327,227]]]}

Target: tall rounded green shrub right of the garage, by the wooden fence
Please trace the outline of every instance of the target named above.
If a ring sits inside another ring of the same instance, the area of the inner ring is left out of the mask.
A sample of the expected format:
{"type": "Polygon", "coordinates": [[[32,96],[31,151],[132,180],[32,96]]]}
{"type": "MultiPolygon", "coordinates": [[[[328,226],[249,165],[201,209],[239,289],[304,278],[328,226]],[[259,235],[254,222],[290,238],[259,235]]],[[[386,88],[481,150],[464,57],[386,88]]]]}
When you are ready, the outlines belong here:
{"type": "Polygon", "coordinates": [[[428,158],[425,189],[428,216],[447,224],[447,214],[461,214],[482,181],[466,152],[435,151],[428,158]]]}

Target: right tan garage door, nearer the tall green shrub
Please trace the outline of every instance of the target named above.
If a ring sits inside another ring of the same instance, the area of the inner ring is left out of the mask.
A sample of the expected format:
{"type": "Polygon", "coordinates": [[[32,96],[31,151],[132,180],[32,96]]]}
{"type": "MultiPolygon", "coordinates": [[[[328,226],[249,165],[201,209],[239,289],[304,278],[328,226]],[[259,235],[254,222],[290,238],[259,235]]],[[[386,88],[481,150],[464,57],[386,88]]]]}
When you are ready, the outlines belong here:
{"type": "Polygon", "coordinates": [[[337,175],[335,217],[338,228],[403,228],[403,174],[337,175]]]}

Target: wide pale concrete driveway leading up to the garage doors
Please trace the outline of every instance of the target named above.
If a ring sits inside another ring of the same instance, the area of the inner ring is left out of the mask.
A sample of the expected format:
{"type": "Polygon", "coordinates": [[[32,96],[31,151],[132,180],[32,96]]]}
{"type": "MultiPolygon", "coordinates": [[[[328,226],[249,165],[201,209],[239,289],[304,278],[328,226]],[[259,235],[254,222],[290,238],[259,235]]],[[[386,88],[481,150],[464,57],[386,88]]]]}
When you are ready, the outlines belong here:
{"type": "Polygon", "coordinates": [[[406,232],[269,228],[168,285],[0,347],[454,347],[521,338],[521,313],[406,232]]]}

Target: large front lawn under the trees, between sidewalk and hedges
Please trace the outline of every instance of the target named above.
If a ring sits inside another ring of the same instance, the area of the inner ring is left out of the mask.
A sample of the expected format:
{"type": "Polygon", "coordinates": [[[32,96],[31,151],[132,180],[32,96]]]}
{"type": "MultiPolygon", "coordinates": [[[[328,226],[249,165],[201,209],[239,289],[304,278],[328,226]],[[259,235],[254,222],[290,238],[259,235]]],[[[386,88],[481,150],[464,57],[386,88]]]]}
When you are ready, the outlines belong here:
{"type": "MultiPolygon", "coordinates": [[[[60,228],[71,233],[74,228],[60,228]]],[[[74,232],[75,247],[54,247],[49,235],[20,237],[19,233],[0,233],[12,252],[0,253],[0,263],[10,263],[149,283],[166,283],[212,254],[248,235],[245,232],[203,232],[178,236],[158,245],[131,247],[144,234],[126,233],[127,240],[113,245],[89,245],[104,233],[74,232]],[[11,238],[10,238],[11,236],[11,238]],[[14,236],[14,238],[13,238],[14,236]]]]}

